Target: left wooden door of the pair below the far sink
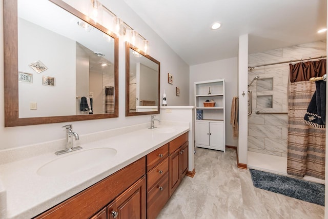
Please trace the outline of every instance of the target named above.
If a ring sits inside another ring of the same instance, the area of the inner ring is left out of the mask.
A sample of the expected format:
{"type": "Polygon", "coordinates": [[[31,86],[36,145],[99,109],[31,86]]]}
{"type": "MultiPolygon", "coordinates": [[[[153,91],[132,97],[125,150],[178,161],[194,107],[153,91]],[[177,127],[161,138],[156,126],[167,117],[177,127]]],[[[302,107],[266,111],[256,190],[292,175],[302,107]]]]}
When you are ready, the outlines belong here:
{"type": "Polygon", "coordinates": [[[169,156],[169,186],[170,186],[170,197],[175,191],[175,189],[179,186],[181,181],[181,155],[180,155],[180,148],[174,151],[169,156]]]}

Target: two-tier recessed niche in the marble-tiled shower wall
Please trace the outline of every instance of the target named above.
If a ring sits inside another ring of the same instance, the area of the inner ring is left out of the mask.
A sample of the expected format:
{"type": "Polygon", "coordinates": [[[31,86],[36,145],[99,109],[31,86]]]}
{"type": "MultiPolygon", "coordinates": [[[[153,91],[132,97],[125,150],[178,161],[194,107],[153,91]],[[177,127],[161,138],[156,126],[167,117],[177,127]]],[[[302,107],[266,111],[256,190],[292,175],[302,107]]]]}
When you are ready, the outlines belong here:
{"type": "Polygon", "coordinates": [[[273,108],[273,77],[257,79],[256,108],[273,108]]]}

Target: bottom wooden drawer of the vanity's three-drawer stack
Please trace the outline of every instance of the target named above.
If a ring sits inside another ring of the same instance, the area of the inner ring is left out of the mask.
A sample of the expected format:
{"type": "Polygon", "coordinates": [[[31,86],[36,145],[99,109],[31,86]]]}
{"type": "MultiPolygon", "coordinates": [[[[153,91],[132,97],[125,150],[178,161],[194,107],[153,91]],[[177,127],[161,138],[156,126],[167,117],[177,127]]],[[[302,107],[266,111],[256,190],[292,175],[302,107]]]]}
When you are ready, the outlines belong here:
{"type": "Polygon", "coordinates": [[[156,218],[169,200],[169,173],[147,192],[147,219],[156,218]]]}

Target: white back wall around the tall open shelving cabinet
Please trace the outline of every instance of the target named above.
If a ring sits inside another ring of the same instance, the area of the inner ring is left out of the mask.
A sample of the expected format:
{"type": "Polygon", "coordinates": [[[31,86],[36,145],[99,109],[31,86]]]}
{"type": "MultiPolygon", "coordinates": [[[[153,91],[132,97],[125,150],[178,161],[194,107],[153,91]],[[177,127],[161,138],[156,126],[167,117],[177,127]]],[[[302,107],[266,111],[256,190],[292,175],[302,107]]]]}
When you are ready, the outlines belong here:
{"type": "Polygon", "coordinates": [[[194,106],[194,83],[214,79],[226,79],[226,145],[237,146],[237,139],[232,136],[230,125],[231,102],[237,95],[237,57],[215,62],[190,66],[189,103],[194,106]]]}

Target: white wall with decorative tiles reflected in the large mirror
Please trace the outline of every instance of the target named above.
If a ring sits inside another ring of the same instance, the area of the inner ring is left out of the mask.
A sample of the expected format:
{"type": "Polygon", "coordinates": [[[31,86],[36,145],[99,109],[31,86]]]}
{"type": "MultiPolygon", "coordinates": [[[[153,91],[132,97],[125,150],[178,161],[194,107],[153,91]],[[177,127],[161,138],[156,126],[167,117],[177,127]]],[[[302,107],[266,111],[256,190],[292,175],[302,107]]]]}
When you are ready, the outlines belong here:
{"type": "Polygon", "coordinates": [[[18,71],[33,75],[32,83],[18,83],[19,117],[75,115],[75,74],[69,74],[75,72],[75,41],[25,19],[18,25],[18,71]],[[48,69],[35,72],[29,64],[36,61],[48,69]],[[55,86],[43,85],[43,76],[54,77],[55,86]],[[30,102],[37,103],[36,110],[30,102]]]}

